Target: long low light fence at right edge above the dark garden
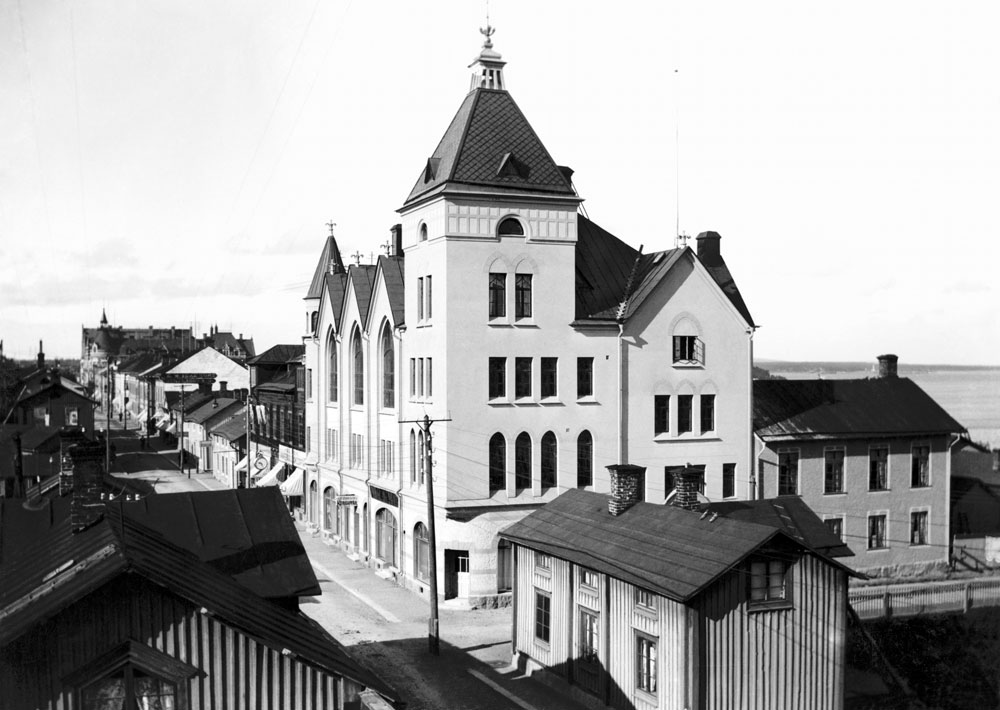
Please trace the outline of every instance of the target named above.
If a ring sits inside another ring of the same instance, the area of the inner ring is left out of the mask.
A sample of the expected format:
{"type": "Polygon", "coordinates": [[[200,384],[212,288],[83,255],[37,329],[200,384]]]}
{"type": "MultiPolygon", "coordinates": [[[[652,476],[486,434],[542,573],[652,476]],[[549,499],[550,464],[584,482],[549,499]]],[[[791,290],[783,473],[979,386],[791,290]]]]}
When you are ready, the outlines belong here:
{"type": "Polygon", "coordinates": [[[964,613],[1000,606],[1000,577],[854,587],[848,598],[862,619],[964,613]]]}

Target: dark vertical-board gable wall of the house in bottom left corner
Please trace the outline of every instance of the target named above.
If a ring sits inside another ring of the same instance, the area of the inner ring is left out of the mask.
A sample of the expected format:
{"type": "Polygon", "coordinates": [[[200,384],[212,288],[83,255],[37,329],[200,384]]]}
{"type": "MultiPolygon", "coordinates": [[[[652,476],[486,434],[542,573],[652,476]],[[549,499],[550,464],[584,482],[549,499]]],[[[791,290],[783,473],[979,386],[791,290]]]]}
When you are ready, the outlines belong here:
{"type": "MultiPolygon", "coordinates": [[[[341,707],[338,676],[282,655],[134,575],[113,580],[6,647],[0,706],[76,707],[62,678],[130,639],[202,671],[187,683],[191,710],[341,707]]],[[[346,694],[360,692],[344,682],[346,694]]]]}

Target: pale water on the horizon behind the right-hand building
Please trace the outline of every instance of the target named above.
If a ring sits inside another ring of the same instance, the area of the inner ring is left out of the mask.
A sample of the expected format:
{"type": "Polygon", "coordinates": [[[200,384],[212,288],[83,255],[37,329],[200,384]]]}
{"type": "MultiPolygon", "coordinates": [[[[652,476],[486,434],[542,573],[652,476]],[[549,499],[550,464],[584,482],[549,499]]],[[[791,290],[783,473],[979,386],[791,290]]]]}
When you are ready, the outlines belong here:
{"type": "MultiPolygon", "coordinates": [[[[772,374],[789,380],[822,377],[825,380],[873,377],[870,370],[856,372],[781,372],[772,374]]],[[[973,441],[1000,448],[1000,368],[990,370],[930,370],[907,372],[909,377],[934,398],[952,417],[969,430],[973,441]]]]}

